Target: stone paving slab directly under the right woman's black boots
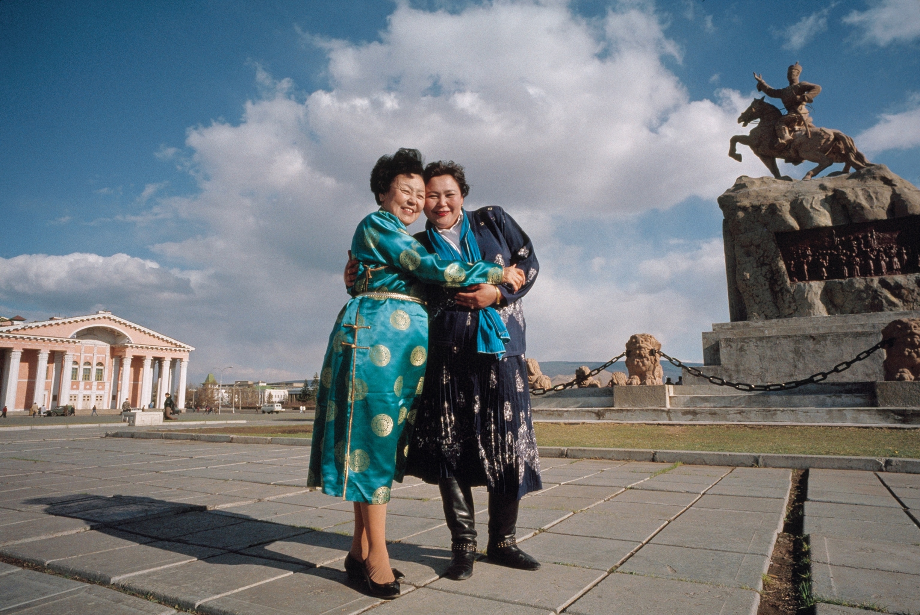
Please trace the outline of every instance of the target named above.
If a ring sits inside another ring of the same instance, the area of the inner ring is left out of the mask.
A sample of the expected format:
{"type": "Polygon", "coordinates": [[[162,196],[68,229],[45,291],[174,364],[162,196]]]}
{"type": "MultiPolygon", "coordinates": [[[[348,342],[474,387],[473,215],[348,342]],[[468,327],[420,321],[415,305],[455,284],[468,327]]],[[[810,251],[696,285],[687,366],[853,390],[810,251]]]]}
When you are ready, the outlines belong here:
{"type": "Polygon", "coordinates": [[[442,578],[429,587],[442,591],[522,604],[537,609],[560,609],[581,589],[604,573],[588,568],[543,564],[539,570],[523,572],[489,564],[475,564],[474,575],[466,581],[442,578]]]}

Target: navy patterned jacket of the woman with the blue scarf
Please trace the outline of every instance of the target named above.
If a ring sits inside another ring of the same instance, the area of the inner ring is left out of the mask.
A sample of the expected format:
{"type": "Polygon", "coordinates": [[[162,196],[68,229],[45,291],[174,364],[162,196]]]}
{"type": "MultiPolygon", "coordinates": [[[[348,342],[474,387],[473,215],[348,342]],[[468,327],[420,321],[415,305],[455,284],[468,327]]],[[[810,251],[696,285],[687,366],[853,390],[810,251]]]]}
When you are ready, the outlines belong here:
{"type": "MultiPolygon", "coordinates": [[[[499,288],[503,299],[499,306],[493,306],[499,311],[501,320],[508,328],[508,335],[511,336],[511,341],[505,345],[505,356],[523,355],[526,350],[526,325],[521,298],[533,287],[540,270],[534,254],[534,245],[531,244],[527,233],[524,233],[518,223],[500,207],[466,211],[466,215],[469,216],[470,228],[476,235],[482,258],[502,267],[517,265],[527,277],[526,283],[517,292],[514,292],[510,285],[502,284],[499,288]]],[[[425,228],[430,227],[431,222],[427,222],[425,228]]],[[[416,233],[414,236],[426,250],[434,252],[428,233],[416,233]]],[[[475,353],[479,313],[478,310],[457,305],[454,302],[454,294],[457,291],[458,289],[428,287],[428,344],[454,347],[455,353],[475,353]]]]}

